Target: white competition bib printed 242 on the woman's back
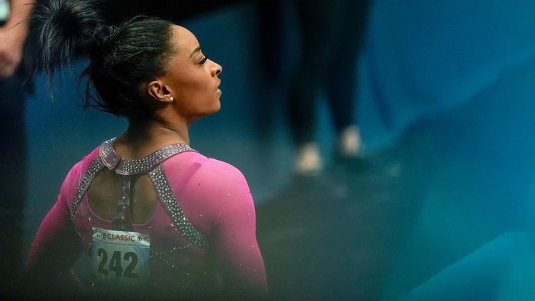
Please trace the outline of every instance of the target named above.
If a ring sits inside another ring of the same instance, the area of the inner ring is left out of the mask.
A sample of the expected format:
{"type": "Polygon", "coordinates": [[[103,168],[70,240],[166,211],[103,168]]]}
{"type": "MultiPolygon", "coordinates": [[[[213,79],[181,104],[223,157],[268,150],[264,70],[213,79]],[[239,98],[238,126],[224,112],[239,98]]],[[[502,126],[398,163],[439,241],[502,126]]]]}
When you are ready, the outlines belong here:
{"type": "Polygon", "coordinates": [[[110,284],[140,284],[150,277],[148,235],[94,227],[92,270],[110,284]]]}

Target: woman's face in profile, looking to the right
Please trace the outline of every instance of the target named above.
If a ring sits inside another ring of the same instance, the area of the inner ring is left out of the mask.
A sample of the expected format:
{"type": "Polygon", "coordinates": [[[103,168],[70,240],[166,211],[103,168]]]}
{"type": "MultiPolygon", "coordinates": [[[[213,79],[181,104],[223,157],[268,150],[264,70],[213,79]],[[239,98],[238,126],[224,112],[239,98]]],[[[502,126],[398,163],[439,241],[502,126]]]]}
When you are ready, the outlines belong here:
{"type": "Polygon", "coordinates": [[[173,97],[173,106],[189,122],[215,113],[221,108],[222,67],[204,56],[195,35],[181,26],[173,26],[176,53],[170,60],[164,80],[173,97]]]}

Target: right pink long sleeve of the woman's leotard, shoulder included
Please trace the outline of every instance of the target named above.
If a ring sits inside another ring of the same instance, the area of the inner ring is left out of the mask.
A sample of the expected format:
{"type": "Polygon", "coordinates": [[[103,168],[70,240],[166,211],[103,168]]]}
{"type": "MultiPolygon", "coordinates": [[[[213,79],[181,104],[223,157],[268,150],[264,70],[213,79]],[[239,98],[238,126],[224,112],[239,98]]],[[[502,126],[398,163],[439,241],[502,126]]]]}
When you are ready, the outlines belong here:
{"type": "Polygon", "coordinates": [[[167,163],[166,172],[176,179],[174,190],[188,220],[210,238],[222,288],[240,299],[258,300],[268,284],[245,177],[228,163],[197,154],[175,160],[167,163]]]}

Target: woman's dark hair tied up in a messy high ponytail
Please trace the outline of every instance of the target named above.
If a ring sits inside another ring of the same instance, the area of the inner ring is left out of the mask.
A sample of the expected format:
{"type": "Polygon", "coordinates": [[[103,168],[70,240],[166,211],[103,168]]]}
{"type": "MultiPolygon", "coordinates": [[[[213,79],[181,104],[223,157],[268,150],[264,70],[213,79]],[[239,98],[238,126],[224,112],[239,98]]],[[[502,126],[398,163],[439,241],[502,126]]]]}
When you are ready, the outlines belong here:
{"type": "Polygon", "coordinates": [[[33,16],[40,28],[42,69],[49,86],[54,72],[78,54],[90,63],[80,74],[85,83],[85,106],[129,120],[151,120],[161,108],[145,85],[167,72],[174,54],[172,23],[138,16],[119,26],[107,25],[99,1],[51,0],[37,6],[33,16]],[[96,90],[96,93],[92,89],[96,90]]]}

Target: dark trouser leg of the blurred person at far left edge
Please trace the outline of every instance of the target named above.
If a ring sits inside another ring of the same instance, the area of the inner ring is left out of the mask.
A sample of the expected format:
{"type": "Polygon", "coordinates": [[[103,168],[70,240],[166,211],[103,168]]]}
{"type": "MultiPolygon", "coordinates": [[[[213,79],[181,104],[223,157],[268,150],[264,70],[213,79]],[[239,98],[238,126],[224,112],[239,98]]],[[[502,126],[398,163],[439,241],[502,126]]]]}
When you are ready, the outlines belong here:
{"type": "Polygon", "coordinates": [[[22,72],[0,81],[0,291],[17,295],[22,276],[26,131],[22,72]]]}

